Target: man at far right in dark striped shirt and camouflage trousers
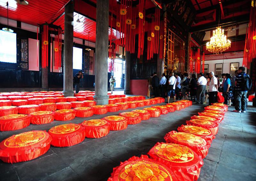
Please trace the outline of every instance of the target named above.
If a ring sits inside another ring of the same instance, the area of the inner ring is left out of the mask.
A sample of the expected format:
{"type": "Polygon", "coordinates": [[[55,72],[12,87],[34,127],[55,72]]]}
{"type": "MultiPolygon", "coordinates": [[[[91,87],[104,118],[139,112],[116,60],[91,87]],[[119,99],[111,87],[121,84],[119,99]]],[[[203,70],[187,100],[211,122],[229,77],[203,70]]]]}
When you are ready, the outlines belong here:
{"type": "Polygon", "coordinates": [[[234,112],[244,112],[246,111],[246,102],[247,102],[247,91],[243,90],[243,81],[244,81],[244,76],[246,76],[246,73],[244,72],[245,68],[244,67],[239,67],[237,71],[237,76],[236,76],[236,106],[234,112]],[[242,110],[241,110],[242,109],[242,110]]]}

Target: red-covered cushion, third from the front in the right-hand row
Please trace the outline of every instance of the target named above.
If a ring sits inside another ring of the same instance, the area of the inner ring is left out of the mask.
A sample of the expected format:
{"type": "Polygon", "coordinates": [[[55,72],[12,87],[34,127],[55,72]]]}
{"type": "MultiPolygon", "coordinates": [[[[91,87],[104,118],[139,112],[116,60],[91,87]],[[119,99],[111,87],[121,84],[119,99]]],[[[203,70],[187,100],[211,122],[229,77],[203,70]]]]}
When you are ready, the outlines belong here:
{"type": "Polygon", "coordinates": [[[210,144],[207,143],[203,138],[196,136],[190,133],[183,133],[177,131],[171,131],[164,136],[164,140],[166,143],[175,143],[187,146],[191,148],[193,151],[205,158],[208,154],[208,149],[210,148],[210,144]]]}

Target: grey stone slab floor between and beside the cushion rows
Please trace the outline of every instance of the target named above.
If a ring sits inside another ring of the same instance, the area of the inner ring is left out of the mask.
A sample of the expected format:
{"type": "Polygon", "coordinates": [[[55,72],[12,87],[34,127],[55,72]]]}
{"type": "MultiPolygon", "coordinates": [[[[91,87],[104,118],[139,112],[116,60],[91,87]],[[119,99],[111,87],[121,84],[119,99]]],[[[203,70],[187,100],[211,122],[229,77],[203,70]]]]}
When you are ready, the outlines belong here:
{"type": "MultiPolygon", "coordinates": [[[[166,133],[176,130],[192,115],[203,110],[202,105],[192,105],[182,111],[150,118],[138,125],[129,125],[122,131],[110,131],[100,139],[86,138],[82,143],[68,148],[51,146],[46,154],[28,162],[8,164],[0,161],[0,180],[107,180],[113,167],[121,161],[146,154],[156,142],[164,141],[166,133]]],[[[246,113],[231,110],[233,107],[225,114],[219,133],[204,159],[200,181],[256,180],[256,108],[249,105],[246,113]]],[[[89,119],[118,113],[94,115],[89,119]]],[[[76,118],[65,123],[81,123],[83,120],[76,118]]],[[[12,134],[29,130],[48,131],[53,126],[65,123],[54,121],[46,125],[30,125],[17,131],[0,132],[0,141],[12,134]]]]}

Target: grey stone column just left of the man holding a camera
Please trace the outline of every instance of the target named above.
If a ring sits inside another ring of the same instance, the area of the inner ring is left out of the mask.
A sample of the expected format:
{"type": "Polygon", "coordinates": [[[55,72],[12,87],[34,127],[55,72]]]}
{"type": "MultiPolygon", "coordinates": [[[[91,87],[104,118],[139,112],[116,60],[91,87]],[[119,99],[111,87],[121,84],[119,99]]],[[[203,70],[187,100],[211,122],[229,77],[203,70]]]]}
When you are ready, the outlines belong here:
{"type": "Polygon", "coordinates": [[[73,91],[73,21],[74,3],[70,1],[65,6],[64,24],[64,81],[63,94],[65,97],[74,96],[73,91]]]}

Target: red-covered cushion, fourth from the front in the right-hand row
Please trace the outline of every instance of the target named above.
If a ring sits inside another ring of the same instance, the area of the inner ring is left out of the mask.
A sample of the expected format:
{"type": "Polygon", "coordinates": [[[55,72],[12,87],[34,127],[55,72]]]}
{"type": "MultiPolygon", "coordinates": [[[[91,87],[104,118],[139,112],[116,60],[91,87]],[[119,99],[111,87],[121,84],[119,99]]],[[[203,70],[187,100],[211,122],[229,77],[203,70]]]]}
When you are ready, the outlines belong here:
{"type": "Polygon", "coordinates": [[[178,131],[195,134],[196,136],[203,138],[209,144],[212,144],[212,140],[215,138],[210,130],[198,126],[181,125],[180,127],[178,127],[178,131]]]}

